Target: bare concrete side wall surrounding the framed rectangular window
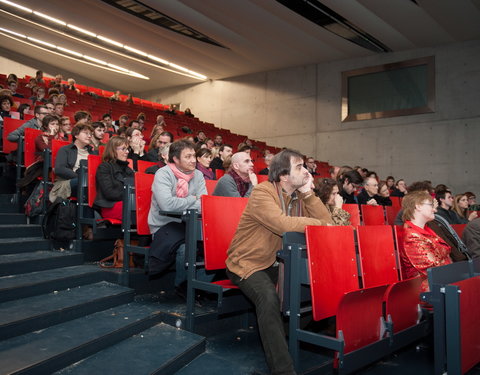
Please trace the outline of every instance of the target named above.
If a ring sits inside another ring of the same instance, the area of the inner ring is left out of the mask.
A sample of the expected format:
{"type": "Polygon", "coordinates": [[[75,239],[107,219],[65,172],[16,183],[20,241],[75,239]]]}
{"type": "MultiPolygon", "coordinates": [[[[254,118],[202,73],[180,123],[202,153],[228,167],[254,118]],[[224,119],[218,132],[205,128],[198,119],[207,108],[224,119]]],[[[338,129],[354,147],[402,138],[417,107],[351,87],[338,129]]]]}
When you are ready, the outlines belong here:
{"type": "Polygon", "coordinates": [[[480,41],[376,55],[145,92],[219,127],[381,177],[480,192],[480,41]],[[436,111],[341,122],[341,72],[435,56],[436,111]]]}

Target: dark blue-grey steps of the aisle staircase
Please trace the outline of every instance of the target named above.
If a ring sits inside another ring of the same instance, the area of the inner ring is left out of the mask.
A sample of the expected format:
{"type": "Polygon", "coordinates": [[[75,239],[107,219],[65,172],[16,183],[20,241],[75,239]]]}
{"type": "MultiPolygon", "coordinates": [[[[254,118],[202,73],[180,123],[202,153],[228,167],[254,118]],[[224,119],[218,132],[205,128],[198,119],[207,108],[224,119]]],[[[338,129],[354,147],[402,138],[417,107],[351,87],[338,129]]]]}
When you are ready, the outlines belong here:
{"type": "Polygon", "coordinates": [[[0,374],[173,374],[205,351],[115,273],[50,250],[10,198],[0,194],[0,374]]]}

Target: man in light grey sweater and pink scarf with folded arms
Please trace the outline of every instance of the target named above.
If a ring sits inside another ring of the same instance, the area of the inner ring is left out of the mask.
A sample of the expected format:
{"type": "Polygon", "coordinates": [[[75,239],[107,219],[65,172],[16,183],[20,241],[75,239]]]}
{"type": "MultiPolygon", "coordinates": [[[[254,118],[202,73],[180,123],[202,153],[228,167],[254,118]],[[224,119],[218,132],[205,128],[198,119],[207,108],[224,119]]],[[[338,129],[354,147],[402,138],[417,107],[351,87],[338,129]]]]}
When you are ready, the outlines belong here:
{"type": "Polygon", "coordinates": [[[162,262],[150,262],[149,274],[165,271],[176,260],[175,288],[185,296],[187,273],[185,269],[185,226],[181,218],[163,215],[160,211],[182,212],[201,210],[200,197],[207,194],[205,179],[196,168],[193,144],[178,140],[170,145],[168,164],[155,173],[152,184],[152,203],[148,213],[148,225],[153,234],[150,259],[159,254],[171,254],[162,262]],[[176,240],[172,240],[175,236],[176,240]],[[181,245],[179,246],[179,244],[181,245]],[[165,248],[167,247],[167,248],[165,248]]]}

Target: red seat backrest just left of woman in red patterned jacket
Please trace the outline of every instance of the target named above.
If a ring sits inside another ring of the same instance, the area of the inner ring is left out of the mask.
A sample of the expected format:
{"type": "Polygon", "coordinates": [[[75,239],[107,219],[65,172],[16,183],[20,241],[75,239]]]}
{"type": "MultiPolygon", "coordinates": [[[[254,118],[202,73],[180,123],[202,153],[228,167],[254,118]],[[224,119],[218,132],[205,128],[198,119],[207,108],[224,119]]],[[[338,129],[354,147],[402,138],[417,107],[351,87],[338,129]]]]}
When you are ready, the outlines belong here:
{"type": "Polygon", "coordinates": [[[370,288],[397,282],[399,275],[392,227],[358,226],[357,239],[363,287],[370,288]]]}

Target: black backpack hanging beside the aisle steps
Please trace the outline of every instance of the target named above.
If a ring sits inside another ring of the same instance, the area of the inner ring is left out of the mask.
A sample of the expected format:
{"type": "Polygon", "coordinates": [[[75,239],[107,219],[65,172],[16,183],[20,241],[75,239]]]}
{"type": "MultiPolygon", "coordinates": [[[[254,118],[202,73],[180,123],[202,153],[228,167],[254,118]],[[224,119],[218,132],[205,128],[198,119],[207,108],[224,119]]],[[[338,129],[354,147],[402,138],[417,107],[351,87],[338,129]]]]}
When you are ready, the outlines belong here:
{"type": "Polygon", "coordinates": [[[57,198],[43,218],[43,237],[56,241],[71,241],[75,239],[76,228],[77,205],[68,199],[57,198]]]}

